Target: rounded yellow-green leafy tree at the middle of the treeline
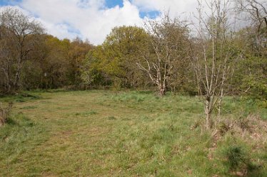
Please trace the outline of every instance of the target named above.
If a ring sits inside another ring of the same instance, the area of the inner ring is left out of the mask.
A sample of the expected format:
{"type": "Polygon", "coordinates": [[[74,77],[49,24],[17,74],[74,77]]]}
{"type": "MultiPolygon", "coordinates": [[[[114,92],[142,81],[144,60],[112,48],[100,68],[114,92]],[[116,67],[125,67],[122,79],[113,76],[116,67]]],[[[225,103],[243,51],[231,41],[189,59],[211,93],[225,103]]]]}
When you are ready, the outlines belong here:
{"type": "Polygon", "coordinates": [[[103,47],[106,51],[105,70],[116,77],[123,87],[140,85],[142,73],[136,66],[138,48],[148,38],[143,28],[136,26],[121,26],[112,29],[103,47]]]}

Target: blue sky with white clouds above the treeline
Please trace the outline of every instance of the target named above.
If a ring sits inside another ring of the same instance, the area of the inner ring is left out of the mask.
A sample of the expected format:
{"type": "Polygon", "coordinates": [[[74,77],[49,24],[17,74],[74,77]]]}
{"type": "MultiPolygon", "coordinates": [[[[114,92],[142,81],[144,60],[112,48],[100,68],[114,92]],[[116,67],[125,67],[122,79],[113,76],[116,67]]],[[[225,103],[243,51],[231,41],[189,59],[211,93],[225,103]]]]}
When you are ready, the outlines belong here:
{"type": "Polygon", "coordinates": [[[143,26],[164,11],[186,18],[197,8],[196,0],[0,0],[0,9],[5,6],[40,21],[46,33],[94,45],[103,43],[115,26],[143,26]]]}

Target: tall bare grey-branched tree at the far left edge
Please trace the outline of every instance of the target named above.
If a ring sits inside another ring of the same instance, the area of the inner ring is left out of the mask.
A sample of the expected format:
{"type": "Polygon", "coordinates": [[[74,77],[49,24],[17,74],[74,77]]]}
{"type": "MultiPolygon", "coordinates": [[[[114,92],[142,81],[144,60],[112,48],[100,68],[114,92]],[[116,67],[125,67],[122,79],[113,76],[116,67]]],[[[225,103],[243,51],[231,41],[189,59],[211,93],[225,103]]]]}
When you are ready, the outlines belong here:
{"type": "Polygon", "coordinates": [[[39,35],[40,23],[25,16],[18,9],[6,8],[0,14],[0,67],[4,73],[6,92],[19,90],[21,70],[29,60],[39,35]]]}

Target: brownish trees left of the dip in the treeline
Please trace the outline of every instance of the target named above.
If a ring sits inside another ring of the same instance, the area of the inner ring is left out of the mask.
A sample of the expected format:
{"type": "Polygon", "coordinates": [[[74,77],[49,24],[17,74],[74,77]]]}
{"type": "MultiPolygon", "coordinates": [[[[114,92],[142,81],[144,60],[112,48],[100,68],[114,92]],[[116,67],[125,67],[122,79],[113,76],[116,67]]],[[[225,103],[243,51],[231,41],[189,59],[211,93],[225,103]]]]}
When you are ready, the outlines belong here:
{"type": "Polygon", "coordinates": [[[0,14],[0,90],[54,89],[81,83],[81,67],[94,48],[76,38],[59,40],[18,9],[0,14]]]}

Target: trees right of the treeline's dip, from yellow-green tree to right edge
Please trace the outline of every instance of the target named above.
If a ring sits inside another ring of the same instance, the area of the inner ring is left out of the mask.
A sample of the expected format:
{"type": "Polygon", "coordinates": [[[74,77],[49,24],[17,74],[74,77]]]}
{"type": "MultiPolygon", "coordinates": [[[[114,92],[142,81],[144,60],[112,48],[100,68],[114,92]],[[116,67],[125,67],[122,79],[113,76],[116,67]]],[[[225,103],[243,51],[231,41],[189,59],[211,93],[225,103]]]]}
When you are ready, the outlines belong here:
{"type": "Polygon", "coordinates": [[[208,16],[202,5],[196,24],[166,14],[147,21],[144,28],[114,28],[104,43],[86,56],[84,82],[128,88],[156,86],[161,95],[168,90],[266,100],[266,3],[211,1],[208,16]]]}

